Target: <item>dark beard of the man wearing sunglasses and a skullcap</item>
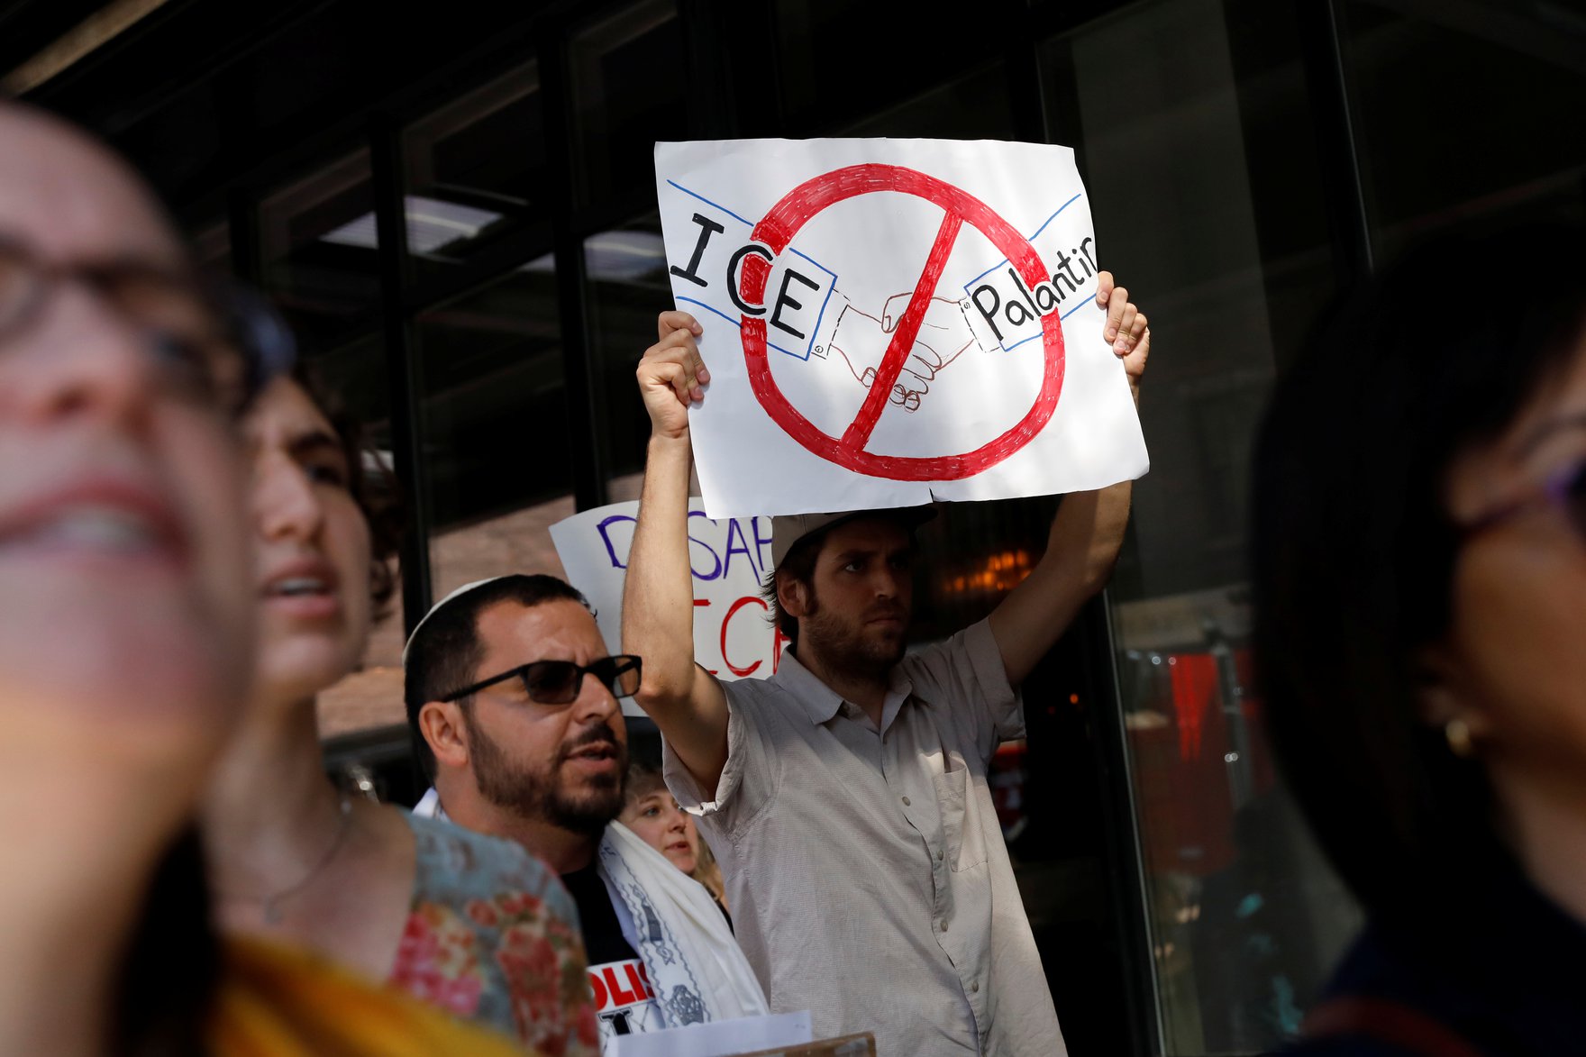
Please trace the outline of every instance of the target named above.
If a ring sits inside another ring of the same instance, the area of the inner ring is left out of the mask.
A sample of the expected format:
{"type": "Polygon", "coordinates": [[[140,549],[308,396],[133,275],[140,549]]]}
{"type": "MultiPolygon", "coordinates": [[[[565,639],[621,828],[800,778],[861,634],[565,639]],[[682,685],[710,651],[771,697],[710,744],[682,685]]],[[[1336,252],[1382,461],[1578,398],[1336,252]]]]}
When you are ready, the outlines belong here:
{"type": "Polygon", "coordinates": [[[468,754],[473,762],[479,795],[498,808],[512,811],[523,819],[542,819],[571,833],[595,835],[622,813],[623,778],[628,773],[628,748],[617,740],[609,724],[590,727],[573,741],[561,743],[549,773],[517,767],[508,759],[473,717],[466,717],[468,754]],[[601,778],[579,795],[561,792],[557,776],[561,762],[593,741],[609,741],[617,746],[617,776],[601,778]]]}

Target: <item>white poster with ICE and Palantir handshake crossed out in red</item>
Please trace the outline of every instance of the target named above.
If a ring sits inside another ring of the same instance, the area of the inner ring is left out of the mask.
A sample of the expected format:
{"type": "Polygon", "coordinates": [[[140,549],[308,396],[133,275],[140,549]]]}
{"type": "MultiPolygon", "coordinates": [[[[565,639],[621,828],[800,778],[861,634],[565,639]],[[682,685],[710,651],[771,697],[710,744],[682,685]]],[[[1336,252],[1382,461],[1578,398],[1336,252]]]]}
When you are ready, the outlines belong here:
{"type": "Polygon", "coordinates": [[[658,143],[712,517],[1096,489],[1148,460],[1067,148],[658,143]]]}

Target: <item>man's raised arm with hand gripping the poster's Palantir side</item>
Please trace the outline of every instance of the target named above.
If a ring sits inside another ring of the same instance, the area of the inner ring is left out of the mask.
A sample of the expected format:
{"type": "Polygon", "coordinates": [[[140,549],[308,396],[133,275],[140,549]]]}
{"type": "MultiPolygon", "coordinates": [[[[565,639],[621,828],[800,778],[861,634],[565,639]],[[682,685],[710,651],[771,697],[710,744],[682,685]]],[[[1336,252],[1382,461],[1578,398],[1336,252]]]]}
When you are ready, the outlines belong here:
{"type": "MultiPolygon", "coordinates": [[[[1102,271],[1096,302],[1107,308],[1104,336],[1123,360],[1129,389],[1140,397],[1140,376],[1151,352],[1145,314],[1129,292],[1113,286],[1102,271]]],[[[1129,524],[1132,484],[1123,481],[1099,492],[1074,492],[1063,498],[1052,521],[1047,552],[1034,571],[991,613],[991,635],[1002,652],[1007,681],[1018,686],[1067,630],[1080,606],[1107,586],[1129,524]]]]}

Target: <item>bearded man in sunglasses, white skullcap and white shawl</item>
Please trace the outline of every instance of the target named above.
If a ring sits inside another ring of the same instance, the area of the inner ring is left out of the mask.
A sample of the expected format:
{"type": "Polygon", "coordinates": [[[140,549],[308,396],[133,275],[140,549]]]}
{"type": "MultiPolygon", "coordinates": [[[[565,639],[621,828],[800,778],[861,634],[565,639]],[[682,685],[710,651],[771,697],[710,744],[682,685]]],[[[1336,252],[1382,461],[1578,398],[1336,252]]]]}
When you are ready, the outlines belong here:
{"type": "Polygon", "coordinates": [[[611,657],[584,597],[498,576],[435,605],[403,652],[435,787],[414,809],[519,841],[579,906],[601,1043],[766,1013],[709,892],[615,822],[641,660],[611,657]],[[706,913],[709,911],[709,913],[706,913]]]}

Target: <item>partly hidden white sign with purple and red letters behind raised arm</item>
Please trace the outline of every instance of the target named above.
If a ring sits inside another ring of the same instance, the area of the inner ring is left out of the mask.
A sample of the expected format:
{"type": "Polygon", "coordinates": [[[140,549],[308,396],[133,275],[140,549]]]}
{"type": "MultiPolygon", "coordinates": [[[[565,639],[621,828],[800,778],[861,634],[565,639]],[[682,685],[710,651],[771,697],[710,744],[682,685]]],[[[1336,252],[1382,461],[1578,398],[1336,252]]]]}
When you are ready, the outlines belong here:
{"type": "MultiPolygon", "coordinates": [[[[622,652],[622,584],[638,524],[638,503],[587,509],[550,527],[568,582],[595,606],[611,652],[622,652]]],[[[787,643],[771,624],[760,586],[771,571],[771,519],[706,516],[688,509],[688,563],[695,586],[695,660],[718,679],[766,678],[787,643]]],[[[642,714],[623,701],[630,714],[642,714]]]]}

